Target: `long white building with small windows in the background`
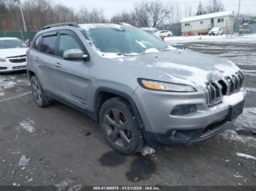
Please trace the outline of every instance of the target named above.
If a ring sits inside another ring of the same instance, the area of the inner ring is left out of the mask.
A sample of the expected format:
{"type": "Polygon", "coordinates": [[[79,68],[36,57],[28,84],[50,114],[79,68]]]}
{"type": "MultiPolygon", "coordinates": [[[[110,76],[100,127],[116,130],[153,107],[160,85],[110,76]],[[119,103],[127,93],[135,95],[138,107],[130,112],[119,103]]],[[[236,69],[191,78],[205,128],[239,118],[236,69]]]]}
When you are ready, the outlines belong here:
{"type": "Polygon", "coordinates": [[[222,28],[223,34],[234,32],[234,12],[215,12],[206,15],[186,17],[181,20],[181,33],[187,34],[208,34],[211,28],[222,28]]]}

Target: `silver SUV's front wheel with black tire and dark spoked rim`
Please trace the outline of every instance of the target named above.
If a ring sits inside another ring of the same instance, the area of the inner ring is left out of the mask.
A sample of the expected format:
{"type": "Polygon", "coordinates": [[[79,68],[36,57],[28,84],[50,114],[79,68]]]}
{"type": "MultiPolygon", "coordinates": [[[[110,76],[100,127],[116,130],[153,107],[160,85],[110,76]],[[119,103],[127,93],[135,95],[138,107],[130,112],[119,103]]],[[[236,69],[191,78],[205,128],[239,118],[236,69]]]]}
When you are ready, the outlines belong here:
{"type": "Polygon", "coordinates": [[[99,125],[110,146],[122,155],[140,152],[145,145],[132,108],[122,98],[110,98],[102,104],[99,125]]]}

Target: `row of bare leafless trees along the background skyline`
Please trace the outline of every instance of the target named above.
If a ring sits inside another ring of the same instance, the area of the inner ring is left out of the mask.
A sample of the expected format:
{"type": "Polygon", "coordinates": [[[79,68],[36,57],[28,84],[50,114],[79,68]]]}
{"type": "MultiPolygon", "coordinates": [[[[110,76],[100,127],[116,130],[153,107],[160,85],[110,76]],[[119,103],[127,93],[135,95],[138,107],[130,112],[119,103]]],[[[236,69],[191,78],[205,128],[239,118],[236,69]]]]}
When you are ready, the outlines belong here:
{"type": "Polygon", "coordinates": [[[121,11],[108,19],[103,9],[87,9],[80,7],[75,11],[64,4],[55,4],[53,0],[0,0],[0,31],[23,30],[23,21],[20,15],[23,9],[26,28],[28,31],[39,31],[42,26],[52,23],[129,23],[133,26],[148,27],[178,23],[182,16],[203,15],[225,10],[221,0],[208,0],[206,5],[200,1],[196,12],[192,7],[162,1],[140,1],[134,4],[131,11],[121,11]],[[183,8],[183,11],[182,9],[183,8]],[[182,14],[183,13],[183,14],[182,14]]]}

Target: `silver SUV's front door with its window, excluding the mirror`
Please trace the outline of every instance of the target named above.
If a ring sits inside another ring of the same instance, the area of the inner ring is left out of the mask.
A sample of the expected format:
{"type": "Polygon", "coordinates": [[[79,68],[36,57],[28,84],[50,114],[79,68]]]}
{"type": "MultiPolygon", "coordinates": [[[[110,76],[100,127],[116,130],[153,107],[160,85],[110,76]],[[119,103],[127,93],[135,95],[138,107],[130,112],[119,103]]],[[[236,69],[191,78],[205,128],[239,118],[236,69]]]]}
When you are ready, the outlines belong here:
{"type": "Polygon", "coordinates": [[[59,32],[58,42],[58,73],[59,96],[83,109],[88,109],[89,90],[91,85],[90,63],[83,60],[65,60],[63,54],[66,50],[80,49],[88,55],[78,35],[73,31],[63,30],[59,32]]]}

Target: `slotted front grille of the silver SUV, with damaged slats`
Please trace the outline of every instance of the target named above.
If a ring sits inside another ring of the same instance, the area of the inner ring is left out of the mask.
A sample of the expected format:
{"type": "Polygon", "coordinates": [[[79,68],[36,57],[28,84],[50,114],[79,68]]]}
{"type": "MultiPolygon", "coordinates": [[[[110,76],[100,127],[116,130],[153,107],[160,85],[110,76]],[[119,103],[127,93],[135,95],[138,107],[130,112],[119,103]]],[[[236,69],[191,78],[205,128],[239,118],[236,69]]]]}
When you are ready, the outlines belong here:
{"type": "Polygon", "coordinates": [[[244,85],[244,75],[241,71],[232,76],[225,77],[219,81],[214,81],[206,85],[208,106],[213,106],[222,102],[223,95],[237,93],[244,85]]]}

